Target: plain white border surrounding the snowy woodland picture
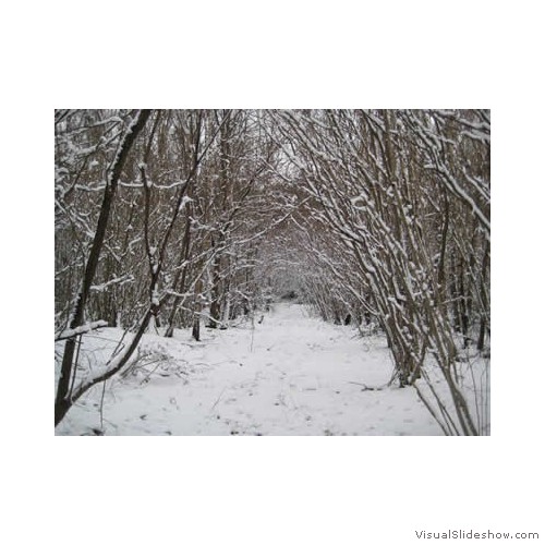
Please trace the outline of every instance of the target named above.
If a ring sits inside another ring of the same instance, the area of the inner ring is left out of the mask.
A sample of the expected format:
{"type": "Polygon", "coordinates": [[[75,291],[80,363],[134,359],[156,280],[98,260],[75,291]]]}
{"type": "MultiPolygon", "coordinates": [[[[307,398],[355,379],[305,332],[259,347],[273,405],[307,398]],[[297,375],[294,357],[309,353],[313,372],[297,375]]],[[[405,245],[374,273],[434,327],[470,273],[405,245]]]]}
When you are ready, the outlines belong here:
{"type": "Polygon", "coordinates": [[[390,544],[420,529],[543,530],[543,31],[537,2],[523,5],[2,8],[3,542],[390,544]],[[492,437],[53,437],[52,109],[106,106],[491,107],[492,437]]]}

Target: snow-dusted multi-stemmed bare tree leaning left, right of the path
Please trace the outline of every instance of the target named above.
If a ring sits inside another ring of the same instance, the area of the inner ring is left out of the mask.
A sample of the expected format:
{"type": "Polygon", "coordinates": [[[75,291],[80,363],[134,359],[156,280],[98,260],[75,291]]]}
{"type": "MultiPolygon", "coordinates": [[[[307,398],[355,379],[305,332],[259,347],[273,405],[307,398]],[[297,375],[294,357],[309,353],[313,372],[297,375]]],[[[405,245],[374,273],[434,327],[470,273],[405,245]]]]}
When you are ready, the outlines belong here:
{"type": "Polygon", "coordinates": [[[438,120],[431,112],[412,111],[287,111],[280,113],[278,126],[283,149],[316,203],[308,217],[335,235],[338,253],[353,257],[344,271],[339,259],[328,261],[336,286],[331,301],[318,302],[323,314],[332,306],[334,319],[340,319],[338,308],[350,307],[343,293],[355,280],[359,288],[351,291],[386,331],[400,386],[423,378],[439,410],[426,401],[427,407],[444,431],[475,435],[480,429],[461,390],[446,284],[457,282],[461,329],[468,336],[473,298],[479,295],[481,316],[486,316],[489,301],[486,289],[482,292],[489,201],[486,178],[477,178],[487,171],[489,128],[486,113],[477,114],[479,124],[468,122],[470,114],[463,112],[441,116],[438,120]],[[448,124],[439,122],[445,119],[448,124]],[[453,124],[452,119],[463,121],[453,124]],[[471,130],[479,131],[477,136],[465,134],[471,130]],[[475,173],[459,167],[467,148],[475,173]],[[437,206],[437,195],[443,195],[445,210],[437,206]],[[475,218],[473,228],[464,210],[475,218]],[[447,265],[447,252],[452,254],[457,244],[462,252],[475,247],[477,240],[477,247],[484,242],[484,251],[455,259],[455,268],[447,265]],[[475,274],[477,263],[481,276],[475,274]],[[428,379],[428,353],[448,385],[453,414],[428,379]]]}

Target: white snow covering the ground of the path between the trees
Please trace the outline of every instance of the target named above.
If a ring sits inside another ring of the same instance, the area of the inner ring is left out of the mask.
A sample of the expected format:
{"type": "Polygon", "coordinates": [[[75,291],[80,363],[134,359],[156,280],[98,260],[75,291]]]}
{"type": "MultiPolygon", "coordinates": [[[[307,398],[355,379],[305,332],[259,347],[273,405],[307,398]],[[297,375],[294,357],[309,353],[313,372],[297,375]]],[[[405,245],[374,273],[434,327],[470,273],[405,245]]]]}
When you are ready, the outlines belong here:
{"type": "MultiPolygon", "coordinates": [[[[187,330],[144,337],[141,366],[106,385],[105,435],[441,435],[413,388],[362,387],[390,379],[384,337],[361,338],[290,303],[253,327],[202,331],[201,342],[187,330]]],[[[87,364],[119,335],[89,336],[87,364]]],[[[56,435],[100,428],[101,396],[101,385],[87,392],[56,435]]]]}

